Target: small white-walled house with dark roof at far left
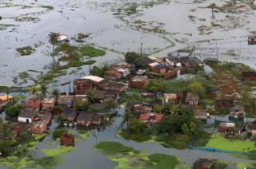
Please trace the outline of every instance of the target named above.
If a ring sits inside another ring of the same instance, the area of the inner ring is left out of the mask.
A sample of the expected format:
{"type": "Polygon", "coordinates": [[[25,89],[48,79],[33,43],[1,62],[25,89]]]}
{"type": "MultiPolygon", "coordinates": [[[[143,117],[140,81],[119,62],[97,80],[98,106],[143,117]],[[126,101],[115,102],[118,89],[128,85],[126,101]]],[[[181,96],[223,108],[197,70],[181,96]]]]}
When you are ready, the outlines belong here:
{"type": "Polygon", "coordinates": [[[35,116],[35,111],[33,108],[22,109],[18,114],[18,122],[30,124],[33,122],[35,116]]]}

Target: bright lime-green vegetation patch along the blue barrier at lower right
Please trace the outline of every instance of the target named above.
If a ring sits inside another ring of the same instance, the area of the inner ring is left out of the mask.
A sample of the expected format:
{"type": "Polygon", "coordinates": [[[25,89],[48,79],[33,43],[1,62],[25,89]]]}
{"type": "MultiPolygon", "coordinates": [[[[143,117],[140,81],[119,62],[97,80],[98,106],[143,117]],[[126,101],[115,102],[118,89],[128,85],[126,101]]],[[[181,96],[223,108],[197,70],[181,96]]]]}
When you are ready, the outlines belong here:
{"type": "Polygon", "coordinates": [[[254,141],[226,140],[222,134],[214,134],[206,143],[206,147],[214,147],[228,151],[256,151],[254,141]]]}

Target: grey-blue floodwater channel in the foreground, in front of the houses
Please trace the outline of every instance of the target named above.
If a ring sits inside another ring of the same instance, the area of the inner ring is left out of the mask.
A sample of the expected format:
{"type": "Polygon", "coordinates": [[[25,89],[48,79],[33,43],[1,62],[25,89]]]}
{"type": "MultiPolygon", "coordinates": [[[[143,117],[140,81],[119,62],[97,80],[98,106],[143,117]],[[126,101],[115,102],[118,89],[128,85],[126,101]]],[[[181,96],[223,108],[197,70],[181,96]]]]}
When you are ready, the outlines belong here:
{"type": "MultiPolygon", "coordinates": [[[[209,152],[209,151],[197,151],[197,150],[178,150],[170,147],[163,147],[160,143],[137,143],[133,140],[124,140],[122,138],[116,137],[115,134],[118,130],[122,122],[122,115],[124,113],[123,108],[118,108],[118,116],[114,117],[114,123],[107,127],[103,131],[97,132],[97,138],[95,137],[95,131],[92,130],[90,135],[86,140],[78,140],[75,141],[76,150],[66,152],[62,154],[62,158],[64,162],[59,164],[58,169],[94,169],[94,168],[104,168],[104,169],[112,169],[118,165],[113,161],[110,161],[99,151],[94,149],[94,145],[100,141],[118,141],[120,143],[125,144],[129,147],[134,147],[137,150],[144,150],[148,153],[165,153],[168,155],[175,155],[180,159],[184,165],[191,166],[194,161],[198,158],[209,158],[209,159],[222,159],[222,160],[230,160],[237,162],[245,162],[245,163],[253,163],[253,160],[250,159],[238,159],[233,156],[230,156],[226,153],[218,153],[218,152],[209,152]]],[[[56,124],[53,120],[50,129],[56,128],[58,124],[56,124]]],[[[58,146],[58,142],[54,142],[50,136],[47,136],[42,142],[39,142],[37,148],[32,150],[35,158],[40,158],[44,154],[42,153],[42,149],[45,148],[54,148],[58,146]]]]}

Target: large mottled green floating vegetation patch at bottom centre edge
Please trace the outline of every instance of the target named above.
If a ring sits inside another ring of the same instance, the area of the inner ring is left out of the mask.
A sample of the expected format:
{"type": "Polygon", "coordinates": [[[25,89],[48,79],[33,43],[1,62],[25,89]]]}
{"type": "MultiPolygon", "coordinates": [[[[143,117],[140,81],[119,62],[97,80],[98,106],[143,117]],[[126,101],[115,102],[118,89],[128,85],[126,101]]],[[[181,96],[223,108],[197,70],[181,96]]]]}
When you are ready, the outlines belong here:
{"type": "Polygon", "coordinates": [[[106,154],[111,160],[118,162],[115,168],[175,168],[180,164],[178,159],[166,154],[148,154],[136,151],[118,142],[101,142],[95,148],[106,154]]]}

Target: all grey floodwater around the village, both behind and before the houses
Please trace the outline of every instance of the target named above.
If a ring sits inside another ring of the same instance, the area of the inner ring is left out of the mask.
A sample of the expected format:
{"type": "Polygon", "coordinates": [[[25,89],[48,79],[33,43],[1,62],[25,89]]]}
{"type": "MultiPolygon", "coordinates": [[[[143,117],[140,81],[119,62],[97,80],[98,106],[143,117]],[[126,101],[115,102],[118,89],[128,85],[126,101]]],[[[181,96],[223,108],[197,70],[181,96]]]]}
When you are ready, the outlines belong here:
{"type": "MultiPolygon", "coordinates": [[[[237,8],[228,9],[225,1],[216,0],[218,8],[214,18],[211,3],[210,0],[0,0],[0,87],[28,87],[34,85],[34,81],[14,82],[21,78],[20,73],[26,72],[36,79],[40,73],[49,71],[53,62],[50,32],[65,33],[69,37],[89,33],[90,37],[84,42],[71,40],[70,44],[91,45],[106,51],[104,56],[93,58],[94,65],[124,62],[124,53],[128,51],[140,53],[142,49],[142,53],[166,57],[169,53],[176,56],[178,49],[193,49],[192,56],[201,60],[214,58],[256,69],[256,45],[247,43],[248,35],[256,30],[256,10],[252,10],[250,1],[238,2],[237,8]],[[35,51],[21,56],[17,49],[25,46],[33,46],[35,51]]],[[[212,71],[210,67],[208,70],[212,71]]],[[[69,92],[70,86],[61,84],[89,75],[89,65],[65,71],[64,75],[54,77],[50,88],[57,86],[62,92],[69,92]]],[[[227,153],[179,150],[163,147],[161,143],[124,140],[116,136],[123,113],[124,109],[118,108],[112,125],[98,131],[97,136],[95,130],[91,130],[86,140],[75,141],[75,149],[63,153],[63,162],[55,168],[116,167],[118,163],[94,149],[100,141],[118,141],[148,153],[175,155],[186,166],[192,166],[198,158],[255,162],[227,153]]],[[[228,120],[228,116],[212,116],[207,124],[228,120]]],[[[254,120],[245,118],[245,121],[254,120]]],[[[57,127],[52,120],[50,131],[57,127]]],[[[40,158],[44,155],[43,149],[57,146],[50,134],[31,152],[34,158],[40,158]]]]}

